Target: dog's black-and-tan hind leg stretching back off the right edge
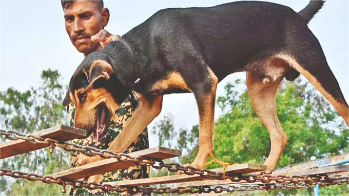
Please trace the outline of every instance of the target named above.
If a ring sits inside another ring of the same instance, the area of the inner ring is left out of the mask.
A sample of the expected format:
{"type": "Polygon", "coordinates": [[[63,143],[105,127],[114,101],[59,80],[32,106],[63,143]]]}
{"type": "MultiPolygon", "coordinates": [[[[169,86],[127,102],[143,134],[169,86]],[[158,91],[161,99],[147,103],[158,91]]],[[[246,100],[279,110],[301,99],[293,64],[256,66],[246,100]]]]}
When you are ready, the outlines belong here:
{"type": "Polygon", "coordinates": [[[314,87],[336,108],[349,126],[348,104],[340,90],[319,41],[310,30],[294,32],[284,52],[276,56],[288,62],[289,66],[305,76],[314,87]],[[303,36],[299,36],[303,34],[303,36]],[[289,51],[289,52],[288,52],[289,51]]]}

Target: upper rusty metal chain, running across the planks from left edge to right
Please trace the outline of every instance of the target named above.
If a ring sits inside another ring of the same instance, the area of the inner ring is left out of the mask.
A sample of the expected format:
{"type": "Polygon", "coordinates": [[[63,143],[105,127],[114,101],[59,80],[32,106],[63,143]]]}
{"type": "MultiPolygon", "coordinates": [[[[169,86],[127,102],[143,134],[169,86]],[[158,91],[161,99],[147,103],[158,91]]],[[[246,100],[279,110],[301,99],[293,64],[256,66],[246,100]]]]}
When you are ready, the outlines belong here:
{"type": "Polygon", "coordinates": [[[223,172],[215,172],[210,171],[208,169],[198,169],[195,167],[190,166],[181,166],[178,163],[164,163],[162,160],[148,160],[142,157],[131,157],[127,154],[123,153],[113,153],[112,151],[106,150],[106,149],[98,149],[91,146],[82,146],[79,144],[75,144],[73,142],[64,142],[60,143],[57,140],[53,140],[50,138],[41,138],[37,136],[31,135],[23,135],[21,133],[18,133],[13,130],[0,130],[0,134],[4,135],[6,138],[10,140],[17,140],[17,139],[24,139],[26,141],[30,141],[33,143],[45,143],[49,145],[51,148],[54,148],[55,146],[61,147],[66,151],[77,151],[82,154],[85,154],[87,156],[94,156],[99,155],[102,158],[108,159],[108,158],[116,158],[118,160],[127,160],[127,161],[133,161],[138,165],[151,165],[151,167],[155,169],[162,169],[166,168],[168,171],[171,172],[183,172],[186,175],[199,175],[202,178],[206,179],[217,179],[217,180],[224,180],[224,179],[230,179],[232,182],[235,183],[255,183],[255,182],[261,182],[264,184],[270,183],[272,181],[275,181],[277,184],[301,184],[301,185],[309,185],[313,183],[327,183],[329,184],[338,184],[338,183],[347,183],[348,177],[341,177],[341,179],[338,180],[337,177],[328,177],[327,175],[308,175],[308,176],[284,176],[284,175],[268,175],[268,174],[262,174],[262,175],[241,175],[239,173],[235,174],[225,174],[223,172]],[[342,182],[344,181],[344,182],[342,182]]]}

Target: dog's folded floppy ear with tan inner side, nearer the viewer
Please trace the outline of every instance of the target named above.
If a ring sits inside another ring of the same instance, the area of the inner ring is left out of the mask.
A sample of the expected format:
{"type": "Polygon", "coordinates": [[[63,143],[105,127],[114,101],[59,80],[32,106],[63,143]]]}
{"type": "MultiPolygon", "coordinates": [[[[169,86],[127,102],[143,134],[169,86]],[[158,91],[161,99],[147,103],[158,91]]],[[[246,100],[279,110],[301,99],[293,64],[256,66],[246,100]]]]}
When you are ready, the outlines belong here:
{"type": "MultiPolygon", "coordinates": [[[[83,70],[86,74],[87,73],[85,70],[83,70]]],[[[89,92],[92,89],[93,82],[95,82],[99,78],[104,78],[108,80],[110,78],[110,75],[113,73],[113,69],[111,65],[105,61],[105,60],[95,60],[91,66],[90,66],[90,71],[87,77],[87,80],[89,82],[86,91],[89,92]]]]}

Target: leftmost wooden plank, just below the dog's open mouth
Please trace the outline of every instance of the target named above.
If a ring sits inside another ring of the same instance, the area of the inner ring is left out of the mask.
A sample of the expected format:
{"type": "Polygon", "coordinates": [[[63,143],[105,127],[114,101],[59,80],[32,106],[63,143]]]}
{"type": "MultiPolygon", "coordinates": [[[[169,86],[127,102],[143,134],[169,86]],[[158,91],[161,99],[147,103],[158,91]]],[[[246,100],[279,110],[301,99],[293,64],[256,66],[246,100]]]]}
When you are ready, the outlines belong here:
{"type": "MultiPolygon", "coordinates": [[[[65,142],[72,139],[86,138],[86,130],[65,125],[56,125],[51,128],[34,132],[33,135],[65,142]]],[[[34,141],[34,139],[32,139],[32,141],[34,141]]],[[[0,158],[3,159],[14,155],[28,153],[30,151],[47,146],[47,144],[42,143],[32,144],[26,140],[21,139],[3,142],[0,144],[0,158]]]]}

